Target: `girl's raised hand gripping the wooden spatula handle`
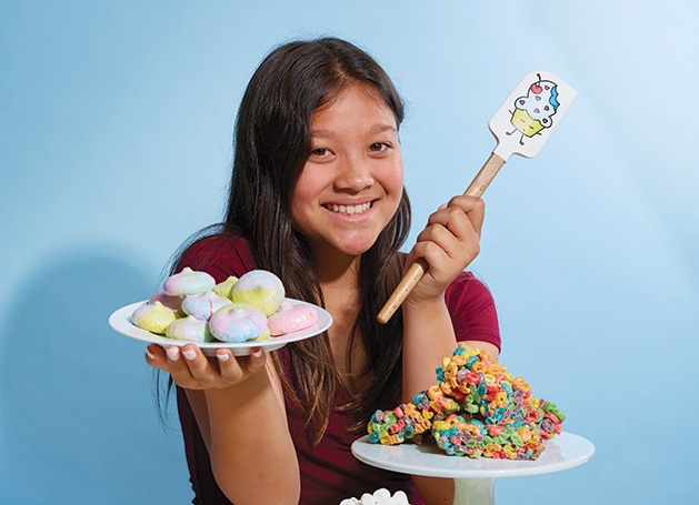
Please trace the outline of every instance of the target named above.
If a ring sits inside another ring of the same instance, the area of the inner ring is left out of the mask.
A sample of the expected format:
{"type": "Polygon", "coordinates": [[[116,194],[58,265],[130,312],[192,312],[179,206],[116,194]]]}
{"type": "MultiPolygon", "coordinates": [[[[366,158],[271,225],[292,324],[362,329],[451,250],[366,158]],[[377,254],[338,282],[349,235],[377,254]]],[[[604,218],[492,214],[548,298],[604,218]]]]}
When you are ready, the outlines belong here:
{"type": "Polygon", "coordinates": [[[408,256],[407,265],[420,257],[428,264],[408,303],[441,297],[449,283],[476,259],[485,210],[480,198],[459,195],[430,215],[408,256]]]}

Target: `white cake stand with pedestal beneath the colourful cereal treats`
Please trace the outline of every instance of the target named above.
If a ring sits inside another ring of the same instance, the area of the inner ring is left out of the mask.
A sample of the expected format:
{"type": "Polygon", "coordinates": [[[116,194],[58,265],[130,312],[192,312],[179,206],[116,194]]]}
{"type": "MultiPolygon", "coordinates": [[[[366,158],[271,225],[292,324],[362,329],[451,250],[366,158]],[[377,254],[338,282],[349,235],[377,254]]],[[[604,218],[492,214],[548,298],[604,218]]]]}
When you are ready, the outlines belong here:
{"type": "Polygon", "coordinates": [[[369,435],[352,444],[359,461],[379,468],[410,475],[455,479],[455,505],[495,505],[495,479],[523,477],[569,469],[588,462],[595,445],[587,438],[563,432],[543,444],[546,451],[536,461],[509,461],[447,456],[432,443],[381,445],[369,435]]]}

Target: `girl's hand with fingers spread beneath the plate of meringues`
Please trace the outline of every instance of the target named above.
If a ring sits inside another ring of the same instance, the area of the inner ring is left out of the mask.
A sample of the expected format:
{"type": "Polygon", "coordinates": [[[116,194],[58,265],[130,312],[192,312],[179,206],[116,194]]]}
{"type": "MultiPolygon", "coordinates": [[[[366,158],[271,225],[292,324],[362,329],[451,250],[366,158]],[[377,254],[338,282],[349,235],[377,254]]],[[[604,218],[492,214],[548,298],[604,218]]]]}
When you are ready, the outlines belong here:
{"type": "Polygon", "coordinates": [[[264,368],[264,350],[252,347],[250,351],[249,356],[236,357],[229,349],[219,349],[216,357],[208,357],[196,344],[170,345],[167,351],[150,344],[146,361],[170,373],[174,383],[186,390],[216,390],[238,384],[264,368]]]}

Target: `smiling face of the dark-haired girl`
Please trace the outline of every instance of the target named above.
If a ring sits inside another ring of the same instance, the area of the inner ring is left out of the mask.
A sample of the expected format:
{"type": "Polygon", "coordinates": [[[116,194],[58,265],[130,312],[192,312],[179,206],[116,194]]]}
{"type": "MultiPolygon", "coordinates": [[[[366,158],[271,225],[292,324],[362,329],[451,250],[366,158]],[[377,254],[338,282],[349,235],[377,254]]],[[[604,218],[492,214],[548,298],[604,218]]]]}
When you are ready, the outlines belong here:
{"type": "Polygon", "coordinates": [[[378,92],[353,84],[313,113],[311,155],[293,188],[291,219],[317,257],[369,250],[402,188],[396,118],[378,92]]]}

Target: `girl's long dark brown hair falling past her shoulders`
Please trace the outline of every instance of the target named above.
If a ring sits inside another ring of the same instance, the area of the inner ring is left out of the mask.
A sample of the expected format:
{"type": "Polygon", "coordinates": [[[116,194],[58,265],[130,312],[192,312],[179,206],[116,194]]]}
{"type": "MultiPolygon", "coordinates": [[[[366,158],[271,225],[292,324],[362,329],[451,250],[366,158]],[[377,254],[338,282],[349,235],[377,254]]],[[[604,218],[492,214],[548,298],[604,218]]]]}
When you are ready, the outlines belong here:
{"type": "MultiPolygon", "coordinates": [[[[350,84],[375,90],[396,117],[403,103],[383,69],[366,51],[336,38],[293,41],[276,48],[261,62],[242,98],[234,132],[233,172],[223,232],[242,233],[259,269],[276,273],[287,295],[324,305],[316,259],[291,222],[293,186],[311,151],[312,113],[350,84]]],[[[378,407],[400,396],[402,319],[381,325],[376,315],[402,274],[398,252],[410,228],[410,204],[403,191],[399,209],[372,248],[362,254],[359,292],[363,301],[348,345],[363,346],[368,391],[347,384],[351,401],[342,408],[368,421],[378,407]],[[359,341],[359,339],[361,341],[359,341]]],[[[287,345],[274,353],[287,397],[308,414],[307,433],[317,444],[328,424],[340,385],[327,335],[287,345]]],[[[343,364],[343,365],[349,365],[343,364]]]]}

